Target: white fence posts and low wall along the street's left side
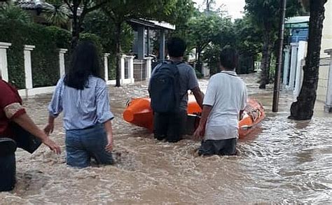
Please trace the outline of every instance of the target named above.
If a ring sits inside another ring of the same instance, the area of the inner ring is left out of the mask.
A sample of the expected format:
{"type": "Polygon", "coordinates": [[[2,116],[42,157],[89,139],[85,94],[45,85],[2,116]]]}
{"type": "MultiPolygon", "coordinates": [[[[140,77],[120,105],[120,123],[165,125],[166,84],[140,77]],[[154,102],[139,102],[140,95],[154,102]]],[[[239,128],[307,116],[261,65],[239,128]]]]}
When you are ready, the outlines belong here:
{"type": "MultiPolygon", "coordinates": [[[[6,81],[8,81],[8,61],[7,61],[7,49],[10,48],[11,43],[0,42],[0,76],[6,81]]],[[[46,94],[52,93],[55,86],[49,87],[33,87],[32,78],[32,61],[31,52],[34,50],[34,45],[25,45],[24,48],[24,58],[25,58],[25,89],[19,90],[22,97],[31,97],[36,94],[46,94]]],[[[59,71],[60,76],[65,73],[65,56],[67,49],[59,49],[59,71]]],[[[116,80],[109,80],[109,53],[104,53],[104,79],[107,85],[115,85],[116,80]]],[[[144,67],[146,71],[146,80],[151,76],[151,59],[145,59],[146,66],[144,67]]],[[[131,55],[121,55],[120,58],[120,83],[121,85],[134,83],[134,56],[131,55]],[[127,75],[125,75],[125,72],[127,75]]]]}

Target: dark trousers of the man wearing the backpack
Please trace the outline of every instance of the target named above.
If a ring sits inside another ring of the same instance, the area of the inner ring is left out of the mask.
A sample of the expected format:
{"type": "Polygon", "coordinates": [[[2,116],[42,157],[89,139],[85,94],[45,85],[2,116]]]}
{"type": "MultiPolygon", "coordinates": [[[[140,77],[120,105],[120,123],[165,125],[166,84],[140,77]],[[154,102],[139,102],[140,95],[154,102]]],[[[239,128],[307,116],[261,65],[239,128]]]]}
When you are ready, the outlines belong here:
{"type": "Polygon", "coordinates": [[[186,129],[187,112],[154,113],[153,134],[155,139],[177,142],[182,138],[186,129]]]}

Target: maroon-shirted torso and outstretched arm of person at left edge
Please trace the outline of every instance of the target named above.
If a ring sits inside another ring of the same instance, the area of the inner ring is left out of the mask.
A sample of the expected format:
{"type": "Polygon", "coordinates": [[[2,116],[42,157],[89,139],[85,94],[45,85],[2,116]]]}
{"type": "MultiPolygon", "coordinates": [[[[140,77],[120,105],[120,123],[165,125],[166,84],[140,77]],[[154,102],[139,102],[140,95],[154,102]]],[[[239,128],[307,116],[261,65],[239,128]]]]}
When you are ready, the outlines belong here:
{"type": "Polygon", "coordinates": [[[11,122],[15,122],[27,132],[36,136],[54,153],[60,154],[60,146],[39,129],[27,115],[25,108],[22,106],[22,99],[18,94],[18,90],[2,80],[0,76],[0,138],[15,140],[13,130],[11,130],[11,122]]]}

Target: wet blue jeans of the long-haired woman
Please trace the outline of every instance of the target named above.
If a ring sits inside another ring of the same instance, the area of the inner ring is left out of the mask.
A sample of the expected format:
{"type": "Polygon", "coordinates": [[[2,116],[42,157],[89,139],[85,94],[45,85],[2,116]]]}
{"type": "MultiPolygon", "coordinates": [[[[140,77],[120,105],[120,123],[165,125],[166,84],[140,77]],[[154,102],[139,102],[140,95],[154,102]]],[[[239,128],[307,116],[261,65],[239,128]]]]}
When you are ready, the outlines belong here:
{"type": "Polygon", "coordinates": [[[67,164],[71,167],[89,167],[91,157],[98,164],[113,164],[111,153],[105,150],[107,136],[104,125],[66,131],[67,164]]]}

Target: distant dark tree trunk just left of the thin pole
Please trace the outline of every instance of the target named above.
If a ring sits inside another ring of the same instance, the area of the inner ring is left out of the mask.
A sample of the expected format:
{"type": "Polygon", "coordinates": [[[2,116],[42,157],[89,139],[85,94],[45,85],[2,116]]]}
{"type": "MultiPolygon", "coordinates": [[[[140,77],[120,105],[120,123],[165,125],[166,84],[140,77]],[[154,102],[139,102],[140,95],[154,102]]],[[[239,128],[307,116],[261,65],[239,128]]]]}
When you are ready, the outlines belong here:
{"type": "Polygon", "coordinates": [[[268,82],[268,73],[269,73],[269,57],[270,57],[270,34],[269,31],[266,30],[263,34],[263,52],[262,52],[262,60],[261,60],[261,82],[259,85],[260,89],[265,89],[266,84],[268,82]]]}

